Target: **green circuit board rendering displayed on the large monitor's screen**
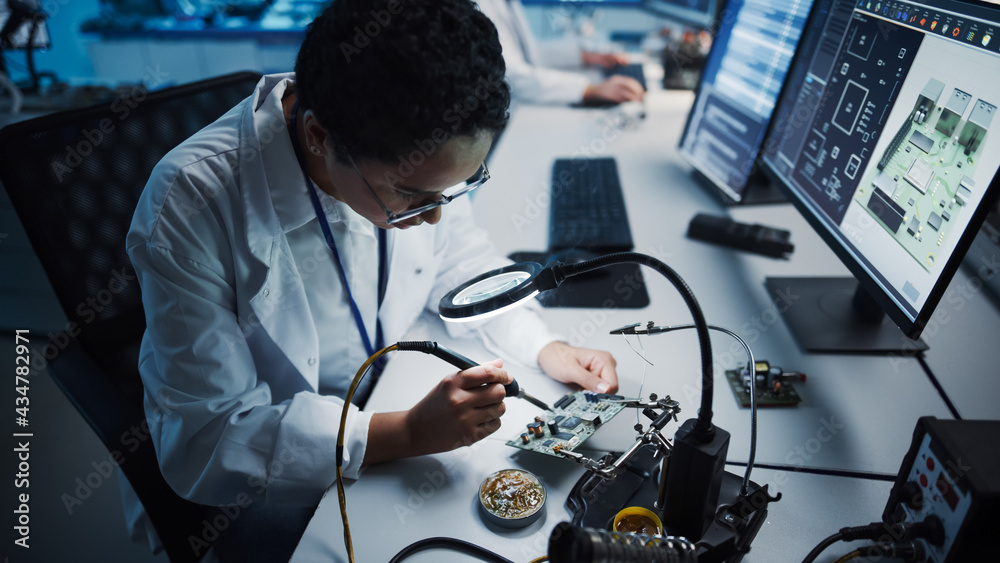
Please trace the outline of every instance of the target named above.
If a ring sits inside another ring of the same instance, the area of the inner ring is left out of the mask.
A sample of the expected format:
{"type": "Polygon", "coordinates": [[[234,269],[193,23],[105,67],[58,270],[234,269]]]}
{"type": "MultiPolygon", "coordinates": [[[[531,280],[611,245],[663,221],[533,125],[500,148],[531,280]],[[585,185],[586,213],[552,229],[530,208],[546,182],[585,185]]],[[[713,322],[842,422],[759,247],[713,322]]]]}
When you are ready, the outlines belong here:
{"type": "Polygon", "coordinates": [[[927,97],[929,90],[948,93],[943,83],[931,79],[854,197],[914,260],[933,272],[940,266],[940,247],[962,232],[957,219],[969,213],[965,207],[976,190],[973,173],[997,108],[982,99],[973,101],[958,88],[937,105],[927,97]],[[962,118],[965,114],[968,119],[962,118]]]}

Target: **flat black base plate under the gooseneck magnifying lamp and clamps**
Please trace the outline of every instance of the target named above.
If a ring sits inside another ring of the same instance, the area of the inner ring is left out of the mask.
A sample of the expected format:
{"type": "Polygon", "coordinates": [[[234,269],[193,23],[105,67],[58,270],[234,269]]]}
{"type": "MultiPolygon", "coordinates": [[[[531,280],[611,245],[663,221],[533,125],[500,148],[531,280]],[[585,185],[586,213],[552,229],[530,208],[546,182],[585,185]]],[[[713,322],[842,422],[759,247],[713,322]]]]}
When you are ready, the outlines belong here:
{"type": "MultiPolygon", "coordinates": [[[[644,446],[628,461],[617,478],[608,482],[587,473],[577,481],[566,499],[566,508],[573,514],[573,524],[588,528],[610,529],[615,514],[626,506],[641,506],[662,516],[654,507],[659,478],[656,448],[644,446]]],[[[620,452],[607,454],[617,459],[620,452]]],[[[780,498],[771,497],[767,486],[750,482],[750,495],[741,498],[742,477],[729,472],[722,474],[719,505],[711,525],[698,541],[699,563],[738,563],[750,551],[750,543],[767,519],[767,505],[780,498]]],[[[667,527],[664,532],[677,535],[667,527]]]]}

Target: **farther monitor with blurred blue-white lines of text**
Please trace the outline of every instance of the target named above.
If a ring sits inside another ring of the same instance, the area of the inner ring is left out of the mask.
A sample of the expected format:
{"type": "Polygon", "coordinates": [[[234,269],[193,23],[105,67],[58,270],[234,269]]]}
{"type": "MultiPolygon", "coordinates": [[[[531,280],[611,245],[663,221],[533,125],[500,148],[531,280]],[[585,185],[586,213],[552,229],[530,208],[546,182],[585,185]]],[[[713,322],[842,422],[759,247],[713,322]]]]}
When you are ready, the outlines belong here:
{"type": "Polygon", "coordinates": [[[724,203],[784,200],[755,161],[812,3],[730,0],[722,11],[680,152],[724,203]]]}

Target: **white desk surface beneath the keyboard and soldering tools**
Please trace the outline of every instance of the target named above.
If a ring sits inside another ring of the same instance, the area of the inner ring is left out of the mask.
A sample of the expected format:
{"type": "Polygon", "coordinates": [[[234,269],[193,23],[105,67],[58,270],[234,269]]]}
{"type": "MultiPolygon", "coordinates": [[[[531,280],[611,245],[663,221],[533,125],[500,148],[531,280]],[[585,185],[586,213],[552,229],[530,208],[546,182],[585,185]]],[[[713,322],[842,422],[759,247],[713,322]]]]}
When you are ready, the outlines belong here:
{"type": "MultiPolygon", "coordinates": [[[[490,162],[493,178],[474,202],[477,219],[494,235],[499,252],[543,250],[547,239],[548,189],[552,159],[565,156],[614,156],[625,189],[635,250],[673,267],[692,287],[707,320],[731,328],[747,338],[758,359],[806,372],[806,383],[796,388],[803,403],[796,408],[759,413],[757,463],[764,466],[840,470],[849,473],[895,475],[909,447],[916,419],[951,414],[920,362],[914,358],[805,354],[775,311],[763,286],[769,275],[847,275],[847,270],[812,233],[791,206],[771,205],[728,210],[734,218],[790,229],[796,244],[790,260],[740,253],[687,239],[690,218],[698,211],[726,213],[714,196],[696,185],[690,167],[676,146],[693,100],[690,92],[651,92],[648,117],[622,129],[614,109],[581,110],[559,107],[517,108],[507,132],[490,162]],[[488,211],[487,211],[488,210],[488,211]]],[[[690,322],[690,314],[676,290],[651,270],[643,272],[651,304],[644,309],[544,309],[546,320],[570,342],[610,350],[618,360],[620,393],[636,395],[645,377],[643,395],[671,395],[681,403],[681,420],[695,416],[700,396],[698,343],[693,331],[644,337],[642,346],[655,365],[644,363],[609,330],[635,322],[656,324],[690,322]]],[[[970,307],[971,308],[971,307],[970,307]]],[[[997,321],[979,321],[988,329],[997,321]],[[993,323],[993,324],[991,324],[993,323]]],[[[953,366],[955,358],[979,354],[970,347],[989,339],[968,339],[959,323],[942,327],[933,339],[928,362],[953,366]],[[946,353],[947,352],[947,353],[946,353]],[[956,353],[951,353],[956,352],[956,353]],[[950,355],[949,355],[950,354],[950,355]],[[947,358],[945,356],[948,356],[947,358]]],[[[978,325],[977,325],[978,326],[978,325]]],[[[995,334],[989,352],[996,350],[995,334]]],[[[490,359],[473,340],[450,341],[436,319],[423,319],[411,339],[438,340],[474,359],[490,359]]],[[[638,348],[635,337],[630,342],[638,348]]],[[[713,333],[715,358],[715,423],[731,435],[728,459],[745,462],[749,454],[749,410],[739,408],[722,378],[724,369],[744,362],[742,348],[713,333]]],[[[410,355],[390,362],[372,395],[369,408],[397,410],[412,406],[448,368],[432,357],[410,355]]],[[[989,361],[984,362],[984,365],[989,361]]],[[[963,364],[958,363],[958,366],[963,364]]],[[[978,364],[976,364],[978,365],[978,364]]],[[[996,362],[992,362],[996,365],[996,362]]],[[[567,388],[531,369],[512,367],[522,386],[552,402],[567,388]]],[[[962,389],[962,369],[939,378],[949,390],[962,389]]],[[[979,369],[979,368],[977,368],[979,369]]],[[[985,369],[985,368],[982,368],[985,369]]],[[[995,370],[993,370],[995,372],[995,370]]],[[[986,373],[979,374],[984,378],[986,373]]],[[[995,389],[996,384],[993,383],[995,389]]],[[[968,397],[956,402],[970,412],[998,418],[998,407],[988,398],[968,397]]],[[[990,395],[996,397],[994,392],[990,395]]],[[[493,436],[454,452],[381,464],[365,470],[349,484],[348,511],[358,561],[386,561],[402,547],[431,536],[451,536],[497,551],[515,561],[545,553],[548,534],[568,519],[563,502],[583,474],[575,464],[524,454],[503,444],[520,433],[537,409],[508,400],[504,426],[493,436]],[[526,529],[509,531],[485,524],[476,512],[475,493],[482,479],[505,467],[535,472],[548,488],[546,515],[526,529]],[[440,474],[439,474],[440,473],[440,474]],[[441,486],[440,475],[445,481],[441,486]],[[432,490],[433,489],[433,490],[432,490]],[[421,492],[425,494],[421,494],[421,492]],[[416,496],[414,496],[416,495],[416,496]],[[426,498],[425,498],[426,497],[426,498]]],[[[960,409],[961,411],[961,409],[960,409]]],[[[633,442],[634,416],[625,412],[588,442],[589,449],[622,450],[633,442]]],[[[668,425],[668,435],[676,430],[668,425]]],[[[742,475],[742,467],[729,466],[742,475]]],[[[843,526],[878,520],[890,483],[878,480],[799,473],[789,469],[757,469],[760,484],[784,498],[771,506],[767,523],[753,543],[746,561],[800,560],[822,538],[843,526]],[[773,479],[773,481],[771,481],[773,479]]],[[[831,554],[838,554],[831,548],[831,554]]],[[[846,550],[844,550],[846,551],[846,550]]],[[[842,554],[841,551],[839,554],[842,554]]],[[[463,561],[467,556],[427,552],[413,561],[463,561]]],[[[294,561],[344,560],[340,515],[331,489],[295,553],[294,561]]],[[[832,561],[821,558],[819,561],[832,561]]]]}

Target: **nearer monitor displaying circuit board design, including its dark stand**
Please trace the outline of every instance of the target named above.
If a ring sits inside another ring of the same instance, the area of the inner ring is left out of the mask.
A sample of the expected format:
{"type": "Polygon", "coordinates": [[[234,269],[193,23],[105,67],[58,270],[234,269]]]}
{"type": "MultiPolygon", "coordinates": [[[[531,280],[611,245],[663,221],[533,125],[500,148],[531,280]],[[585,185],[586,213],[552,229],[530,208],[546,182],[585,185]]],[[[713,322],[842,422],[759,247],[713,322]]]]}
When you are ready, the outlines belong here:
{"type": "Polygon", "coordinates": [[[817,1],[762,158],[857,282],[768,285],[808,350],[912,352],[1000,191],[1000,6],[817,1]]]}

